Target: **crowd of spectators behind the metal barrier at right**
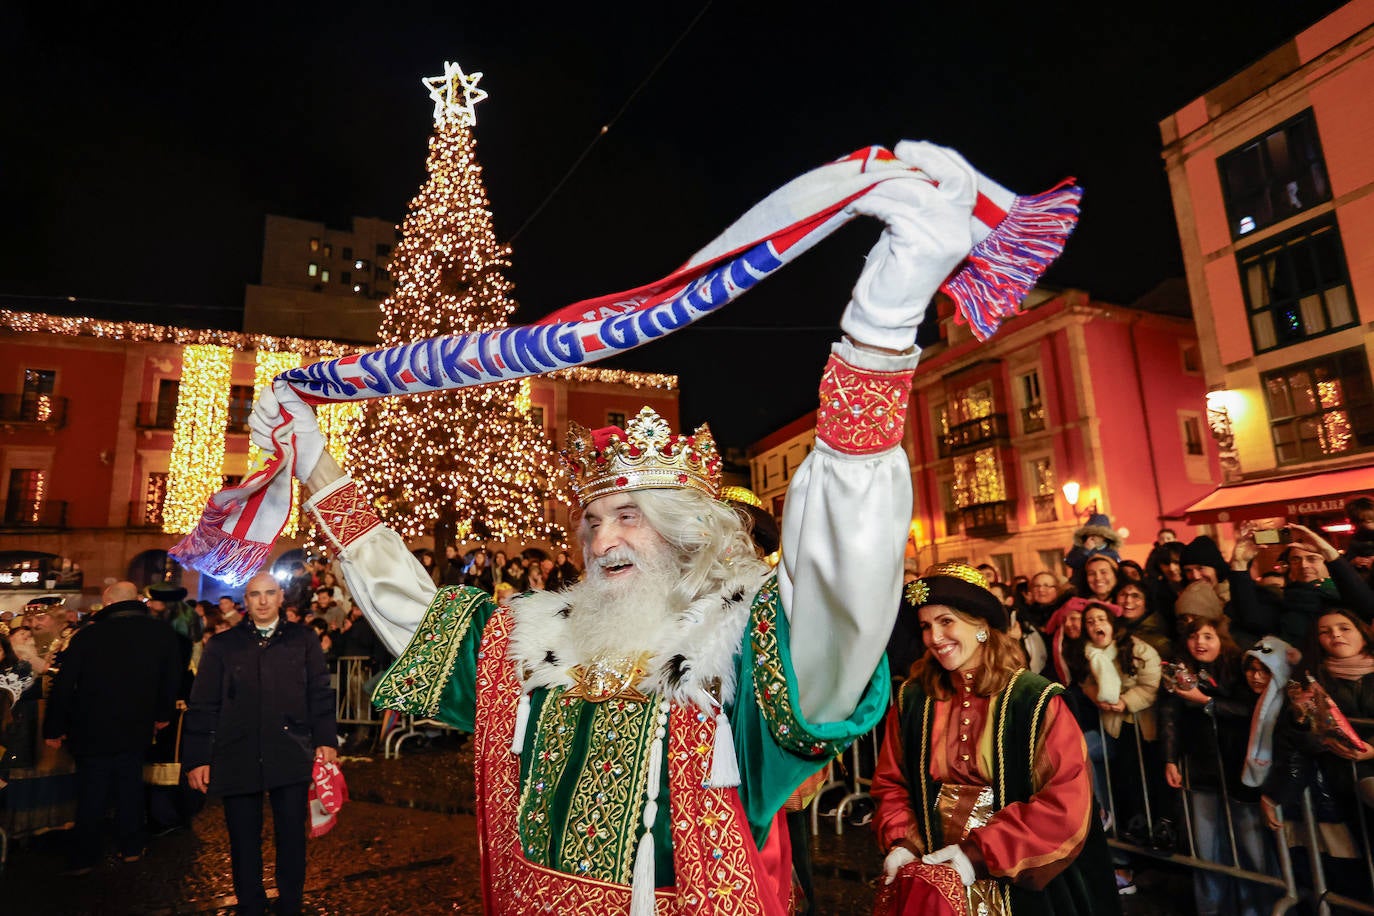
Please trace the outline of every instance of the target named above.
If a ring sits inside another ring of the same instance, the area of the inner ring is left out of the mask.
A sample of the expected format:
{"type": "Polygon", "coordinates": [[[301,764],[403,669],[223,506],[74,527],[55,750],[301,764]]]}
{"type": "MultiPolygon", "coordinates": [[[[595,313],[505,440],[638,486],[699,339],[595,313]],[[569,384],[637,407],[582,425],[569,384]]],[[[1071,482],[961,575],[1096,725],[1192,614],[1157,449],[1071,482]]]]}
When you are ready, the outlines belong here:
{"type": "MultiPolygon", "coordinates": [[[[1362,825],[1374,817],[1360,814],[1374,805],[1374,500],[1352,500],[1347,515],[1344,551],[1287,525],[1242,529],[1227,559],[1209,537],[1180,542],[1165,529],[1143,563],[1123,558],[1094,515],[1066,575],[999,582],[980,567],[1013,612],[1026,666],[1066,688],[1109,835],[1278,878],[1278,845],[1311,842],[1308,792],[1327,887],[1370,898],[1362,825]]],[[[915,626],[904,607],[889,643],[899,677],[923,651],[915,626]]],[[[1118,850],[1123,894],[1135,893],[1139,860],[1118,850]]],[[[1312,887],[1308,850],[1292,861],[1312,887]]],[[[1268,912],[1279,895],[1194,872],[1201,916],[1268,912]]]]}

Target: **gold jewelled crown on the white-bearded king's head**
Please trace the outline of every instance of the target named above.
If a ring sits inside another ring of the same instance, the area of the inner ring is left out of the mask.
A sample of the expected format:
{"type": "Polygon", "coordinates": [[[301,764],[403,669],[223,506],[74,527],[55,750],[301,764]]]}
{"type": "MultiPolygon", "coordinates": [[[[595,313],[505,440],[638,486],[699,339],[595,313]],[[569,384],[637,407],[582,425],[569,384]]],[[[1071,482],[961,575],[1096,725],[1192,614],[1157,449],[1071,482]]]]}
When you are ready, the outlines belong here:
{"type": "Polygon", "coordinates": [[[692,435],[675,435],[647,407],[624,430],[569,423],[563,461],[581,505],[631,490],[692,489],[712,499],[720,492],[720,452],[710,427],[702,423],[692,435]]]}

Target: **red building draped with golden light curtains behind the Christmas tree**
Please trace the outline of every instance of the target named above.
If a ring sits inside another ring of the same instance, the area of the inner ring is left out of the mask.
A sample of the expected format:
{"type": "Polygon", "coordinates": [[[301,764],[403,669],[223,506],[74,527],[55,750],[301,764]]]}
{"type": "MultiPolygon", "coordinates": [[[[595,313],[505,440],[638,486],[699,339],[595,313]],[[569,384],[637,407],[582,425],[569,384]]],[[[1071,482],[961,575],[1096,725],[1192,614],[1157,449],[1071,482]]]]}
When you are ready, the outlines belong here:
{"type": "MultiPolygon", "coordinates": [[[[217,488],[246,472],[256,387],[282,365],[350,350],[335,341],[0,309],[0,365],[10,372],[0,385],[0,555],[34,551],[76,563],[88,602],[106,578],[148,581],[180,537],[170,531],[185,527],[176,514],[199,514],[207,481],[217,488]]],[[[536,422],[559,444],[569,420],[624,424],[646,404],[679,426],[673,375],[566,369],[528,389],[536,422]]],[[[344,423],[322,413],[322,426],[330,435],[344,423]]],[[[566,519],[566,507],[551,511],[566,519]]],[[[283,538],[279,548],[298,545],[283,538]]],[[[41,588],[49,574],[56,588],[74,588],[71,577],[59,582],[60,562],[0,563],[0,607],[7,588],[41,588]]],[[[194,575],[187,570],[183,581],[192,595],[194,575]]]]}

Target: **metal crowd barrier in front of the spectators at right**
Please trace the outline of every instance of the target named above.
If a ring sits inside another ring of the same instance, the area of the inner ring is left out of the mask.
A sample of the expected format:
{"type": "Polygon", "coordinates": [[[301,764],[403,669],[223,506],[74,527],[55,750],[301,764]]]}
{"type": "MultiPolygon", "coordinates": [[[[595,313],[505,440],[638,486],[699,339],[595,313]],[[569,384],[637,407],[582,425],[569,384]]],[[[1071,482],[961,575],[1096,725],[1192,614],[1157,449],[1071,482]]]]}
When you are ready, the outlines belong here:
{"type": "MultiPolygon", "coordinates": [[[[1359,725],[1374,725],[1374,720],[1351,720],[1352,724],[1359,725]]],[[[1178,865],[1184,865],[1187,868],[1195,868],[1200,871],[1216,872],[1219,875],[1227,875],[1245,882],[1253,882],[1257,884],[1264,884],[1268,887],[1275,887],[1283,891],[1283,897],[1274,902],[1271,909],[1274,916],[1281,916],[1286,913],[1293,906],[1296,906],[1301,900],[1307,898],[1312,901],[1319,916],[1330,916],[1331,906],[1337,906],[1344,911],[1356,913],[1371,913],[1374,915],[1374,904],[1363,900],[1356,900],[1352,897],[1344,897],[1330,891],[1326,886],[1326,873],[1322,867],[1322,850],[1318,840],[1318,827],[1316,816],[1312,808],[1311,790],[1304,788],[1303,791],[1303,812],[1301,812],[1301,828],[1307,840],[1307,851],[1312,869],[1312,887],[1298,887],[1297,879],[1293,872],[1292,853],[1287,846],[1287,838],[1282,827],[1279,829],[1271,831],[1274,839],[1274,851],[1279,861],[1279,875],[1268,875],[1264,872],[1256,872],[1250,869],[1241,868],[1239,865],[1226,865],[1223,862],[1213,862],[1205,858],[1200,858],[1197,854],[1197,840],[1195,832],[1193,829],[1193,799],[1191,799],[1191,786],[1189,784],[1189,770],[1186,766],[1183,769],[1183,788],[1179,791],[1179,802],[1183,812],[1183,834],[1187,836],[1187,854],[1180,856],[1176,851],[1157,850],[1151,846],[1139,846],[1135,843],[1128,843],[1121,839],[1121,820],[1117,816],[1116,809],[1116,787],[1112,780],[1112,766],[1110,757],[1106,753],[1106,731],[1102,729],[1101,714],[1098,717],[1099,735],[1103,737],[1102,761],[1106,773],[1106,790],[1107,790],[1107,810],[1112,814],[1112,828],[1109,831],[1107,843],[1123,851],[1131,853],[1134,856],[1146,856],[1150,858],[1157,858],[1161,861],[1169,861],[1178,865]]],[[[1212,720],[1213,737],[1216,737],[1216,720],[1212,720]]],[[[1132,728],[1135,733],[1135,758],[1138,761],[1139,780],[1140,780],[1140,794],[1146,818],[1146,834],[1147,836],[1154,836],[1156,834],[1156,818],[1150,809],[1150,792],[1147,788],[1149,775],[1145,770],[1145,742],[1140,737],[1140,729],[1132,728]]],[[[1217,746],[1217,773],[1221,779],[1220,791],[1217,795],[1217,808],[1224,817],[1226,836],[1230,843],[1231,861],[1239,862],[1241,857],[1238,854],[1238,846],[1235,842],[1235,821],[1231,813],[1231,797],[1227,791],[1227,775],[1226,765],[1220,759],[1220,742],[1217,746]]],[[[1355,775],[1355,784],[1358,786],[1359,776],[1355,772],[1355,761],[1351,761],[1351,770],[1355,775]]],[[[1172,791],[1172,790],[1171,790],[1172,791]]],[[[1210,791],[1210,790],[1206,790],[1210,791]]],[[[1369,831],[1369,820],[1364,812],[1364,803],[1355,799],[1356,817],[1359,823],[1359,835],[1355,836],[1356,846],[1363,850],[1364,856],[1364,871],[1370,880],[1370,887],[1374,889],[1374,854],[1371,854],[1371,836],[1369,831]]],[[[1182,842],[1182,836],[1180,836],[1182,842]]]]}

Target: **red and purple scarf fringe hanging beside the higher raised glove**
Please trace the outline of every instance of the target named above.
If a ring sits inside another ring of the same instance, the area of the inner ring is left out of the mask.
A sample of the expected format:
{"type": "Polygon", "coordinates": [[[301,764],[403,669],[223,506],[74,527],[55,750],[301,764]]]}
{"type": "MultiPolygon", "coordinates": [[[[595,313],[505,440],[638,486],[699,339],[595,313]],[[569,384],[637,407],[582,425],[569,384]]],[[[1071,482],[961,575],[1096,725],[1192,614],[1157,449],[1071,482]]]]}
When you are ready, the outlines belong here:
{"type": "Polygon", "coordinates": [[[955,320],[987,341],[1018,313],[1079,221],[1083,188],[1068,179],[1044,194],[1018,196],[1007,217],[941,287],[955,302],[955,320]]]}

